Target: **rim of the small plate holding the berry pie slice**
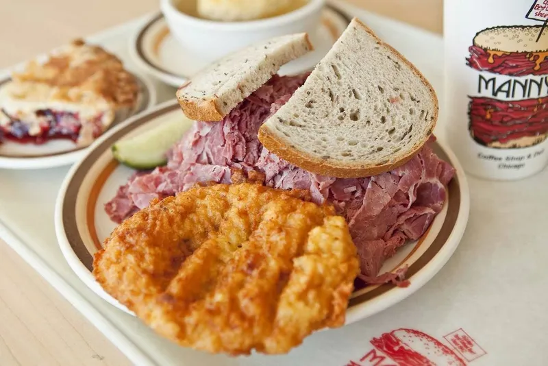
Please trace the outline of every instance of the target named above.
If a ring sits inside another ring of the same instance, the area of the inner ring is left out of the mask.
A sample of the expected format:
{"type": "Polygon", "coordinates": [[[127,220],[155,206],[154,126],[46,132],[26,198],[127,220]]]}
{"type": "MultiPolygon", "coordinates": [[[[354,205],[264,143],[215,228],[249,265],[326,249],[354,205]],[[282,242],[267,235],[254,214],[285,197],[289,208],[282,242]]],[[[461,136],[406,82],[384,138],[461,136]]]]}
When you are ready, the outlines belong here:
{"type": "MultiPolygon", "coordinates": [[[[156,103],[158,103],[158,92],[153,84],[153,81],[148,75],[142,75],[140,73],[131,72],[134,77],[138,79],[140,84],[145,88],[148,95],[148,101],[142,101],[142,104],[136,108],[136,111],[129,114],[129,117],[121,119],[116,125],[109,127],[99,138],[103,135],[108,134],[117,125],[121,125],[127,121],[127,119],[132,119],[135,116],[147,112],[153,108],[156,103]]],[[[10,74],[5,75],[0,80],[0,84],[8,82],[10,80],[10,74]]],[[[12,169],[12,170],[27,170],[27,169],[49,169],[56,167],[63,167],[74,162],[79,161],[81,158],[86,156],[86,152],[92,149],[92,146],[97,143],[99,140],[97,138],[93,143],[88,147],[83,147],[82,149],[75,149],[66,151],[60,154],[48,155],[48,156],[0,156],[0,169],[12,169]]]]}

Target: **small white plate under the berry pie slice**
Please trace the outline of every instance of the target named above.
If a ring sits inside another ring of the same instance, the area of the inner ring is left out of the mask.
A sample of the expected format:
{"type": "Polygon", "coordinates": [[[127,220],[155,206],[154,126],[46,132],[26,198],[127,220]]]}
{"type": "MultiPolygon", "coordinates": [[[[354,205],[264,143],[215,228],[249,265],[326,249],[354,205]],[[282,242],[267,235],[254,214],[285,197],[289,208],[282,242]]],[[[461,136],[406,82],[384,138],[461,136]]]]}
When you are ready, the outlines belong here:
{"type": "MultiPolygon", "coordinates": [[[[146,77],[134,75],[140,85],[140,96],[136,108],[116,117],[111,127],[132,117],[134,114],[151,108],[156,103],[156,91],[151,81],[146,77]]],[[[0,84],[8,82],[9,77],[0,81],[0,84]]],[[[0,168],[4,169],[46,169],[73,164],[82,158],[89,147],[76,147],[73,141],[51,140],[41,145],[32,143],[17,143],[4,139],[0,143],[0,168]]]]}

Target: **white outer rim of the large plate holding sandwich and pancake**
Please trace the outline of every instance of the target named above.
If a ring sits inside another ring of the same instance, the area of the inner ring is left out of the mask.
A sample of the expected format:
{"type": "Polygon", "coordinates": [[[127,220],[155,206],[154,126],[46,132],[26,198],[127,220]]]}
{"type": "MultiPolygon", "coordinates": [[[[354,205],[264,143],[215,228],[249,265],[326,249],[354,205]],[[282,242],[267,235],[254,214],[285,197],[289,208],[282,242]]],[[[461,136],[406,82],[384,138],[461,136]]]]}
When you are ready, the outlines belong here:
{"type": "MultiPolygon", "coordinates": [[[[110,138],[112,134],[116,134],[119,130],[123,130],[129,125],[136,123],[142,118],[149,117],[150,115],[158,114],[158,116],[153,118],[156,119],[164,114],[173,112],[173,108],[176,108],[177,106],[177,101],[169,100],[165,101],[164,103],[158,104],[158,106],[155,106],[155,108],[151,108],[150,110],[145,110],[139,114],[136,114],[134,117],[127,119],[127,121],[116,125],[112,130],[109,130],[108,133],[103,134],[103,136],[101,136],[101,138],[99,138],[96,143],[88,151],[86,151],[86,156],[92,154],[92,152],[95,151],[98,145],[102,144],[105,139],[110,138]]],[[[458,244],[460,243],[462,235],[464,234],[464,231],[466,229],[466,224],[469,218],[469,186],[466,180],[464,170],[462,169],[462,166],[460,165],[460,162],[456,158],[456,155],[453,153],[453,151],[451,151],[451,149],[449,149],[449,147],[445,143],[439,140],[436,141],[436,143],[438,143],[439,147],[445,152],[449,162],[456,169],[456,177],[458,178],[457,189],[460,193],[460,204],[458,206],[458,215],[455,219],[455,223],[453,225],[453,228],[451,229],[451,232],[449,232],[449,236],[447,237],[445,243],[443,243],[443,245],[440,247],[438,252],[436,252],[436,254],[434,254],[434,256],[432,256],[432,258],[430,258],[428,262],[423,265],[423,267],[418,269],[416,273],[412,275],[412,281],[410,282],[410,285],[408,287],[392,287],[388,289],[388,291],[384,291],[383,293],[372,297],[371,299],[368,299],[364,302],[360,302],[353,306],[349,305],[346,313],[345,324],[351,324],[355,321],[365,319],[366,317],[369,317],[375,313],[379,313],[380,311],[389,308],[390,306],[393,306],[394,304],[397,304],[398,302],[401,302],[401,300],[404,300],[406,297],[410,296],[412,293],[414,293],[424,284],[426,284],[430,279],[432,279],[434,275],[438,273],[438,271],[440,271],[445,263],[447,263],[449,258],[451,258],[456,247],[458,247],[458,244]]],[[[88,267],[86,267],[86,265],[82,263],[82,260],[80,260],[80,258],[75,253],[71,245],[71,241],[67,236],[66,231],[64,230],[63,209],[66,200],[66,192],[71,182],[73,181],[75,174],[79,171],[80,166],[84,164],[84,162],[86,162],[86,156],[84,156],[84,158],[79,160],[77,164],[74,164],[73,167],[71,167],[69,173],[66,174],[60,187],[58,197],[55,200],[55,234],[57,236],[58,243],[60,245],[65,260],[67,261],[67,263],[69,263],[69,266],[77,274],[80,280],[82,280],[86,284],[86,286],[88,286],[92,291],[99,295],[99,297],[101,297],[103,300],[112,304],[116,308],[125,311],[125,313],[135,315],[126,306],[124,306],[123,304],[115,300],[114,297],[106,293],[106,291],[103,290],[99,283],[96,282],[88,267]]]]}

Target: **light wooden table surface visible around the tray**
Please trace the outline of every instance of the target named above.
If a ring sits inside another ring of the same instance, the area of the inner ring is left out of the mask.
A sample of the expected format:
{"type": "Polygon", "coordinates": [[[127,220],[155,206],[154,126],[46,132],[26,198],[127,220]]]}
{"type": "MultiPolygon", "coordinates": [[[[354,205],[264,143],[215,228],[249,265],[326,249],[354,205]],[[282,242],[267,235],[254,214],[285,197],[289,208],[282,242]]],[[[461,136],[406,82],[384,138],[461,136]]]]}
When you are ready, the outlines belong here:
{"type": "MultiPolygon", "coordinates": [[[[347,1],[433,32],[442,29],[442,0],[347,1]]],[[[0,0],[0,68],[155,10],[158,0],[0,0]]],[[[2,241],[0,321],[1,366],[130,364],[2,241]]]]}

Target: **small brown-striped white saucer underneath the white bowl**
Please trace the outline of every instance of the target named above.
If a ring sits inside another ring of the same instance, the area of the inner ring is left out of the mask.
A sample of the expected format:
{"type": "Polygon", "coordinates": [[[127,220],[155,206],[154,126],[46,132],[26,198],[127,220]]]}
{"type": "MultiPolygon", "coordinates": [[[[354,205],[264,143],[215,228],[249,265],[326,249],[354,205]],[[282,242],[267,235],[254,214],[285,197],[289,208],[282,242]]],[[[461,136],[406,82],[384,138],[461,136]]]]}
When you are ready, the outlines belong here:
{"type": "MultiPolygon", "coordinates": [[[[343,34],[349,21],[350,19],[342,12],[326,7],[322,12],[318,29],[314,34],[310,34],[314,51],[282,66],[279,74],[303,73],[316,66],[340,34],[343,34]]],[[[130,51],[134,61],[144,71],[176,88],[207,64],[200,60],[199,55],[184,53],[177,40],[170,34],[162,14],[154,16],[137,32],[130,45],[130,51]]]]}

